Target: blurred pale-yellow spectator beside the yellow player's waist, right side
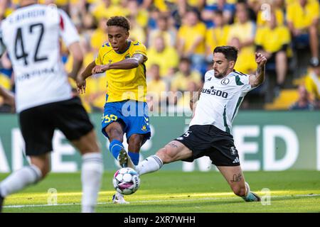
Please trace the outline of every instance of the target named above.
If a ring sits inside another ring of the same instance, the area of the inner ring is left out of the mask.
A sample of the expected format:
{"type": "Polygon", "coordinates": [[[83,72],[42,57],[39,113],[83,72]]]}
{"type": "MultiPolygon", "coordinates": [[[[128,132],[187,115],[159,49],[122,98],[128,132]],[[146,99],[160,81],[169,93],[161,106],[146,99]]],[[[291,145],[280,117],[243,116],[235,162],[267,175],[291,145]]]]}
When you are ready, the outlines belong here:
{"type": "Polygon", "coordinates": [[[147,80],[147,99],[151,111],[159,111],[161,104],[166,105],[166,96],[161,95],[168,92],[168,86],[160,77],[159,65],[152,64],[148,72],[147,80]]]}

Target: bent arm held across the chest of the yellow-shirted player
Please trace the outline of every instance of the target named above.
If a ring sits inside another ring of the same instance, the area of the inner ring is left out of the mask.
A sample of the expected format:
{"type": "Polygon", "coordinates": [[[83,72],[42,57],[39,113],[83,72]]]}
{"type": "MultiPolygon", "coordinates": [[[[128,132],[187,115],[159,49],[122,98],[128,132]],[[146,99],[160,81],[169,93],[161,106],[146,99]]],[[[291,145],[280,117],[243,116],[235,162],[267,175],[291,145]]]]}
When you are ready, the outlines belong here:
{"type": "Polygon", "coordinates": [[[107,65],[96,65],[92,70],[92,74],[105,72],[107,70],[131,70],[142,64],[145,58],[142,54],[134,54],[132,57],[119,62],[107,65]]]}

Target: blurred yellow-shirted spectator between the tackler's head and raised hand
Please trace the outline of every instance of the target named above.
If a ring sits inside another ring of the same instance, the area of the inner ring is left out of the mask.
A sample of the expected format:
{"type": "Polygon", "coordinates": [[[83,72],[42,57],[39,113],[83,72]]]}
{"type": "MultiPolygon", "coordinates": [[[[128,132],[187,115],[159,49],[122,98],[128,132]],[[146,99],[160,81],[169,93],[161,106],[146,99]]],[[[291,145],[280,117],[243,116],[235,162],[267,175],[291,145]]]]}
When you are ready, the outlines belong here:
{"type": "Polygon", "coordinates": [[[238,48],[238,57],[235,62],[235,70],[243,72],[245,74],[255,74],[257,70],[257,63],[255,62],[255,52],[250,50],[242,50],[240,46],[240,40],[233,38],[230,40],[229,45],[233,45],[238,48]]]}

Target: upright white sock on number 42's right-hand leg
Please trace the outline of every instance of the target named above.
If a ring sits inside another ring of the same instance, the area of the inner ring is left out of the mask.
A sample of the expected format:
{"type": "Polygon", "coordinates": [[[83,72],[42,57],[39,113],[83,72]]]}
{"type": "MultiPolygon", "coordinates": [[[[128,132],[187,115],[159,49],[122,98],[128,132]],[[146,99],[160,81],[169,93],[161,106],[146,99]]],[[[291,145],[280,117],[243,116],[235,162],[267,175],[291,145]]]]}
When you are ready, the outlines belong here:
{"type": "Polygon", "coordinates": [[[87,153],[82,155],[82,213],[92,213],[97,205],[103,173],[101,153],[87,153]]]}

